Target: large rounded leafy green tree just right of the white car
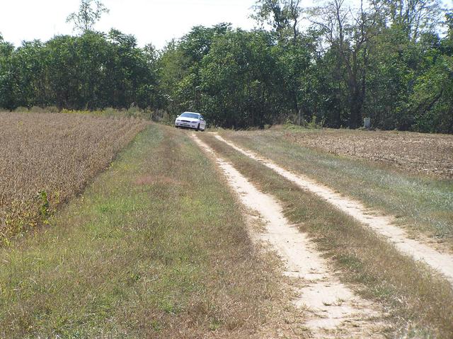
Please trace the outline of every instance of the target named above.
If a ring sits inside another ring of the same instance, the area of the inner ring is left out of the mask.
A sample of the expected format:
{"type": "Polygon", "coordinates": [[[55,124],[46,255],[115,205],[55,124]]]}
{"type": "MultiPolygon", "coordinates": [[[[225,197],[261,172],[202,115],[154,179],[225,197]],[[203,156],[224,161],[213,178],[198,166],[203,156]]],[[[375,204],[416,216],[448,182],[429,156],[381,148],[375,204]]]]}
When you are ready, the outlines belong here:
{"type": "Polygon", "coordinates": [[[285,111],[269,33],[235,30],[212,44],[202,62],[205,115],[226,127],[263,126],[285,111]]]}

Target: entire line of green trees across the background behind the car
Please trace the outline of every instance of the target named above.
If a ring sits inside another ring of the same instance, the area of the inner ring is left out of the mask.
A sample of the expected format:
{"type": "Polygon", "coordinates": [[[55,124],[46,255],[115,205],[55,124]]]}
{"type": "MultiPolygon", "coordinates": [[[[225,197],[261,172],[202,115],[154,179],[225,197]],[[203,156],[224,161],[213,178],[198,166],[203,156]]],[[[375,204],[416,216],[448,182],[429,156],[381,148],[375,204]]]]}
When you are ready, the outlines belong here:
{"type": "Polygon", "coordinates": [[[236,128],[370,117],[382,130],[453,133],[453,13],[437,0],[258,0],[256,29],[196,26],[159,51],[93,30],[107,11],[94,4],[69,16],[73,36],[16,48],[0,35],[0,107],[136,105],[236,128]]]}

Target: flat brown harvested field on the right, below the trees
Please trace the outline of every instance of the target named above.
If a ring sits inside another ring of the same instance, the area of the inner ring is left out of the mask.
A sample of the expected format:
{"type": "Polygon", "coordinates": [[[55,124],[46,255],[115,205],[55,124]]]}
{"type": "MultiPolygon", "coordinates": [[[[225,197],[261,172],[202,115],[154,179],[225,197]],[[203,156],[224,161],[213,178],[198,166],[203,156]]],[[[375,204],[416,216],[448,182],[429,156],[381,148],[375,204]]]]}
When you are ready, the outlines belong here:
{"type": "Polygon", "coordinates": [[[333,154],[380,161],[413,173],[453,178],[453,136],[355,130],[285,131],[285,138],[333,154]]]}

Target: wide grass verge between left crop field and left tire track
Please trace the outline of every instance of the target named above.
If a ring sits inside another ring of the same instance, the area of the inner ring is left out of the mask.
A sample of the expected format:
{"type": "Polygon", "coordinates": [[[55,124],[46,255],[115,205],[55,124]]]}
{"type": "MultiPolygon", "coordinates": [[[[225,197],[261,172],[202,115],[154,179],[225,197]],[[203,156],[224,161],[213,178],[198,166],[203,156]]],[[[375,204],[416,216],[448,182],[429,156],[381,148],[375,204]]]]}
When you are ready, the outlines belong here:
{"type": "Polygon", "coordinates": [[[281,292],[263,255],[212,161],[152,125],[50,226],[0,248],[0,337],[253,333],[281,292]]]}

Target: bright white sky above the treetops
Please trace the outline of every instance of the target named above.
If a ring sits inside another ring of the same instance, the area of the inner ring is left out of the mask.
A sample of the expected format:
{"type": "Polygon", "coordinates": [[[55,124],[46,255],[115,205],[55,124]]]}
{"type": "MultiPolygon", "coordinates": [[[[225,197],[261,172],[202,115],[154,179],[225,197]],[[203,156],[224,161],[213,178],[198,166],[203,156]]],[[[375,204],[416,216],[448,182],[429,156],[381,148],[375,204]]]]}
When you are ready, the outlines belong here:
{"type": "MultiPolygon", "coordinates": [[[[354,1],[354,0],[352,0],[354,1]]],[[[445,0],[452,4],[453,0],[445,0]]],[[[140,46],[152,43],[159,49],[172,38],[180,38],[194,25],[232,23],[235,28],[251,29],[249,18],[255,0],[103,0],[110,9],[96,25],[108,32],[117,28],[133,34],[140,46]]],[[[304,4],[311,0],[304,1],[304,4]]],[[[77,11],[79,0],[0,0],[0,33],[8,42],[47,41],[54,35],[71,34],[66,23],[69,13],[77,11]]]]}

